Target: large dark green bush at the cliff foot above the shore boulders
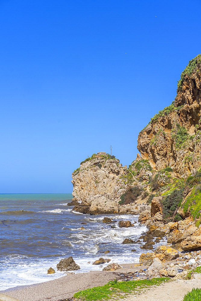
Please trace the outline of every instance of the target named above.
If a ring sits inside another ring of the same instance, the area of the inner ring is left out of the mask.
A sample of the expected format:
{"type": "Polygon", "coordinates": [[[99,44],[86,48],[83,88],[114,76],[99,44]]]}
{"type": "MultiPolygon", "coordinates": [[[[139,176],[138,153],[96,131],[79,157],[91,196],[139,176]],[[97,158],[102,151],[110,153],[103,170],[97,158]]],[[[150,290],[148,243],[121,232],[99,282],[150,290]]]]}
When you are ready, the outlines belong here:
{"type": "MultiPolygon", "coordinates": [[[[167,195],[163,200],[163,215],[165,218],[173,217],[176,214],[177,208],[181,205],[183,199],[184,188],[175,189],[170,195],[167,195]]],[[[176,215],[175,215],[176,217],[176,215]]],[[[176,217],[178,218],[178,216],[176,217]]]]}

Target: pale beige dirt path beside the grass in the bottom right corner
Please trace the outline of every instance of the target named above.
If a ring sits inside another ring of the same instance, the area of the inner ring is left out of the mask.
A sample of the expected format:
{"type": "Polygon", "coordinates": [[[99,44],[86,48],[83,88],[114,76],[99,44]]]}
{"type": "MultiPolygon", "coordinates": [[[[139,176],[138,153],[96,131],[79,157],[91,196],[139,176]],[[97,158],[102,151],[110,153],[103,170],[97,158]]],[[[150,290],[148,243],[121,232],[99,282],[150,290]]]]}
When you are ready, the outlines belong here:
{"type": "Polygon", "coordinates": [[[175,280],[157,287],[150,287],[140,295],[130,295],[125,301],[182,301],[192,288],[201,288],[201,279],[175,280]]]}

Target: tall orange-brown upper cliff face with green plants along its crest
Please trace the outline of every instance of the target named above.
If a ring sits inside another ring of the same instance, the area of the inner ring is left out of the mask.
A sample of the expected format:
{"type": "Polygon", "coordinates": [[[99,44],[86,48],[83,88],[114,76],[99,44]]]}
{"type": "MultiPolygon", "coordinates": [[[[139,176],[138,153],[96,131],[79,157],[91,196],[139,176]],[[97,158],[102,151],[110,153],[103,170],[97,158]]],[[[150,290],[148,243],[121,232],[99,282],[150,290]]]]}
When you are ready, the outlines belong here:
{"type": "Polygon", "coordinates": [[[201,55],[181,74],[173,104],[156,114],[138,136],[138,150],[153,169],[170,166],[186,177],[201,166],[201,55]]]}

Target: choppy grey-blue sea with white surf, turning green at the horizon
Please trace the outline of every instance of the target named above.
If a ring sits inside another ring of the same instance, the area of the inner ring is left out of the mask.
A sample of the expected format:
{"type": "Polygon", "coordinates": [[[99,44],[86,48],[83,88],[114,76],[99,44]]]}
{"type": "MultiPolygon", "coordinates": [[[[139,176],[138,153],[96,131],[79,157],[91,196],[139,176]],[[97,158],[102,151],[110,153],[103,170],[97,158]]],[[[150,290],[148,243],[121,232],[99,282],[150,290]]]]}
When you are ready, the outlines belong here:
{"type": "Polygon", "coordinates": [[[92,265],[100,257],[119,264],[139,262],[141,244],[122,244],[147,231],[138,216],[82,214],[68,206],[71,200],[72,194],[0,194],[0,290],[62,277],[66,272],[56,265],[69,256],[80,265],[76,273],[102,270],[107,264],[92,265]],[[105,216],[114,223],[103,223],[105,216]],[[119,228],[122,220],[136,223],[119,228]],[[50,267],[55,274],[47,275],[50,267]]]}

